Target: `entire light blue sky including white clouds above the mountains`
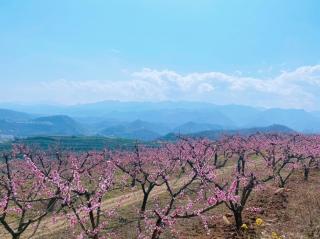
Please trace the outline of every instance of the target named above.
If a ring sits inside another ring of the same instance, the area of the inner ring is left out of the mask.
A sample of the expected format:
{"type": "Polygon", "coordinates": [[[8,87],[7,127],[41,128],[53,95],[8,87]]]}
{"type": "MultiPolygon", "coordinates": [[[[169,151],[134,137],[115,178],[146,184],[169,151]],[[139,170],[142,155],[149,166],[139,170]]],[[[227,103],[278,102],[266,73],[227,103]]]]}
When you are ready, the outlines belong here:
{"type": "Polygon", "coordinates": [[[0,102],[320,109],[318,0],[0,0],[0,102]]]}

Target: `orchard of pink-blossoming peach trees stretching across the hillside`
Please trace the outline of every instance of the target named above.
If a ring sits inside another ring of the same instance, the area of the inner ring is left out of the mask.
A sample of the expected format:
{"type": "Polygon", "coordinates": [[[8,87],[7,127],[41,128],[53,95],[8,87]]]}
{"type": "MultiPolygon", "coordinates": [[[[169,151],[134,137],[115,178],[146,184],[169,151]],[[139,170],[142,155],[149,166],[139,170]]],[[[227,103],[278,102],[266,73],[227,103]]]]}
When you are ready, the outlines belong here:
{"type": "Polygon", "coordinates": [[[141,192],[137,238],[156,239],[165,230],[175,234],[183,218],[199,217],[207,227],[208,211],[221,204],[240,229],[254,190],[267,182],[285,187],[297,170],[308,180],[319,158],[320,137],[306,135],[182,138],[160,147],[82,154],[15,145],[0,162],[0,226],[20,238],[26,231],[35,234],[50,215],[65,217],[79,237],[116,237],[108,223],[121,200],[113,208],[103,202],[114,190],[132,188],[141,192]]]}

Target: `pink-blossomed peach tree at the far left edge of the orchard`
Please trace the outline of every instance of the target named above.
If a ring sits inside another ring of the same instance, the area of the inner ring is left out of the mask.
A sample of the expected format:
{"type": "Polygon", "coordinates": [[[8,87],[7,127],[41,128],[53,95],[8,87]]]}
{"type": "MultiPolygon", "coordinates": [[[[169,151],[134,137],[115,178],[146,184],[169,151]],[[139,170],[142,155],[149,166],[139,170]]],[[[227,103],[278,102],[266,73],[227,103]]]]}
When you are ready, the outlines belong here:
{"type": "Polygon", "coordinates": [[[1,155],[0,224],[12,238],[20,238],[31,225],[35,233],[58,201],[59,189],[47,178],[46,160],[45,153],[20,146],[1,155]]]}

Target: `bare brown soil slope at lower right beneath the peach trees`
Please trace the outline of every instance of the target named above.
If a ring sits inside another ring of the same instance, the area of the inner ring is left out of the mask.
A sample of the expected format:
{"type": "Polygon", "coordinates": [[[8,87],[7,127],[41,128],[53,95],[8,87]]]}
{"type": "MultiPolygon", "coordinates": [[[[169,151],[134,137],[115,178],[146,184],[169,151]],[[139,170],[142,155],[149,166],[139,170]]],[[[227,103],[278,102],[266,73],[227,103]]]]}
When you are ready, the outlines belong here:
{"type": "Polygon", "coordinates": [[[259,208],[257,212],[244,211],[244,223],[248,230],[238,232],[233,226],[229,212],[209,222],[210,234],[199,220],[185,220],[180,228],[181,238],[197,239],[255,239],[255,238],[320,238],[320,172],[314,171],[306,182],[295,174],[284,189],[272,185],[254,193],[248,207],[259,208]],[[256,219],[263,220],[262,226],[256,219]]]}

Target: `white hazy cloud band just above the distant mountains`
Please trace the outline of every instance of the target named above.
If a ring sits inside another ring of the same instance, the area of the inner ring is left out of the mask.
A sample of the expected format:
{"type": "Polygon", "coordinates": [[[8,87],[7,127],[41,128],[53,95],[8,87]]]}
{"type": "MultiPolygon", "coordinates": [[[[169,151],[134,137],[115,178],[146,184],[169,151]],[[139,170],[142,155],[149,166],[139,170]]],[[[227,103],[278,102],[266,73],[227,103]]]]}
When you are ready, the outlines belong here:
{"type": "Polygon", "coordinates": [[[1,101],[63,104],[101,100],[190,100],[216,104],[320,109],[320,65],[303,66],[272,78],[222,72],[180,74],[145,68],[128,80],[70,81],[4,86],[1,101]]]}

